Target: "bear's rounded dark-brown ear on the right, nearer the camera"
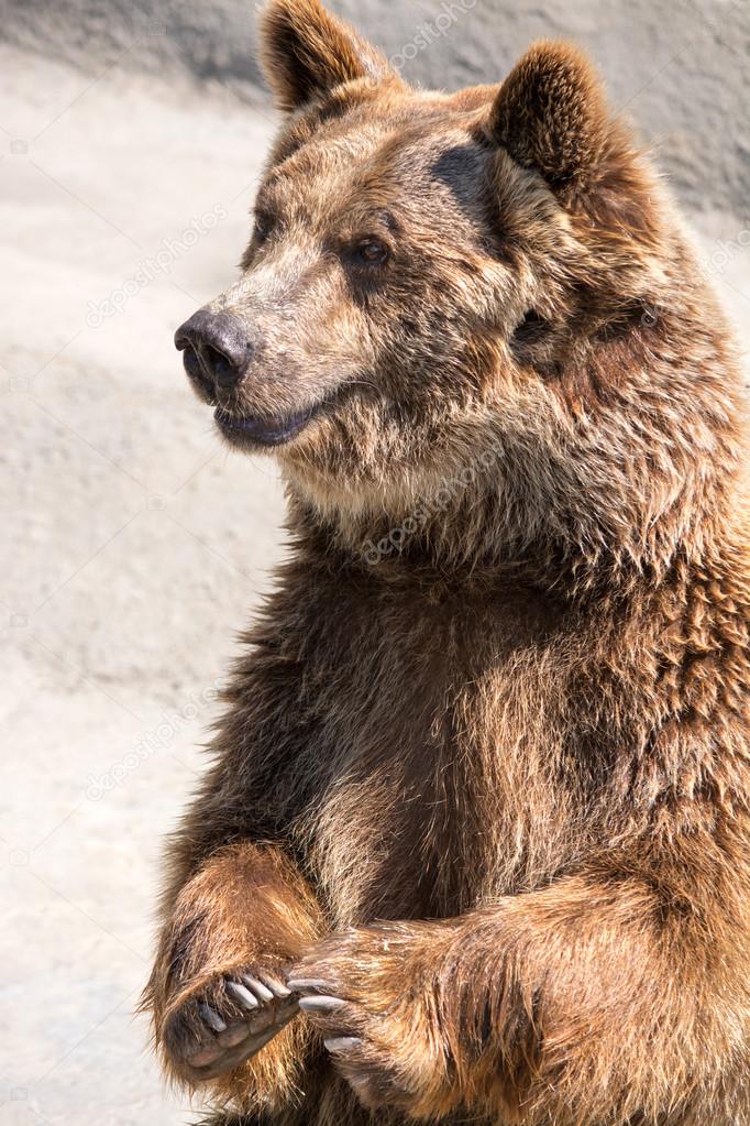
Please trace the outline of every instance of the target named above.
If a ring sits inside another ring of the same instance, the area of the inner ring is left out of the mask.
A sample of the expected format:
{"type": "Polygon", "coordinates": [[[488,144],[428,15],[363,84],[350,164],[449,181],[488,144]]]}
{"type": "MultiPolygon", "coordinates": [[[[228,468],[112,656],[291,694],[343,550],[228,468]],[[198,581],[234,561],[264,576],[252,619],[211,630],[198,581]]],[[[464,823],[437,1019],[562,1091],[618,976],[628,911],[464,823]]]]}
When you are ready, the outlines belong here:
{"type": "Polygon", "coordinates": [[[567,43],[535,43],[500,87],[489,120],[498,144],[563,199],[600,171],[612,122],[588,59],[567,43]]]}

